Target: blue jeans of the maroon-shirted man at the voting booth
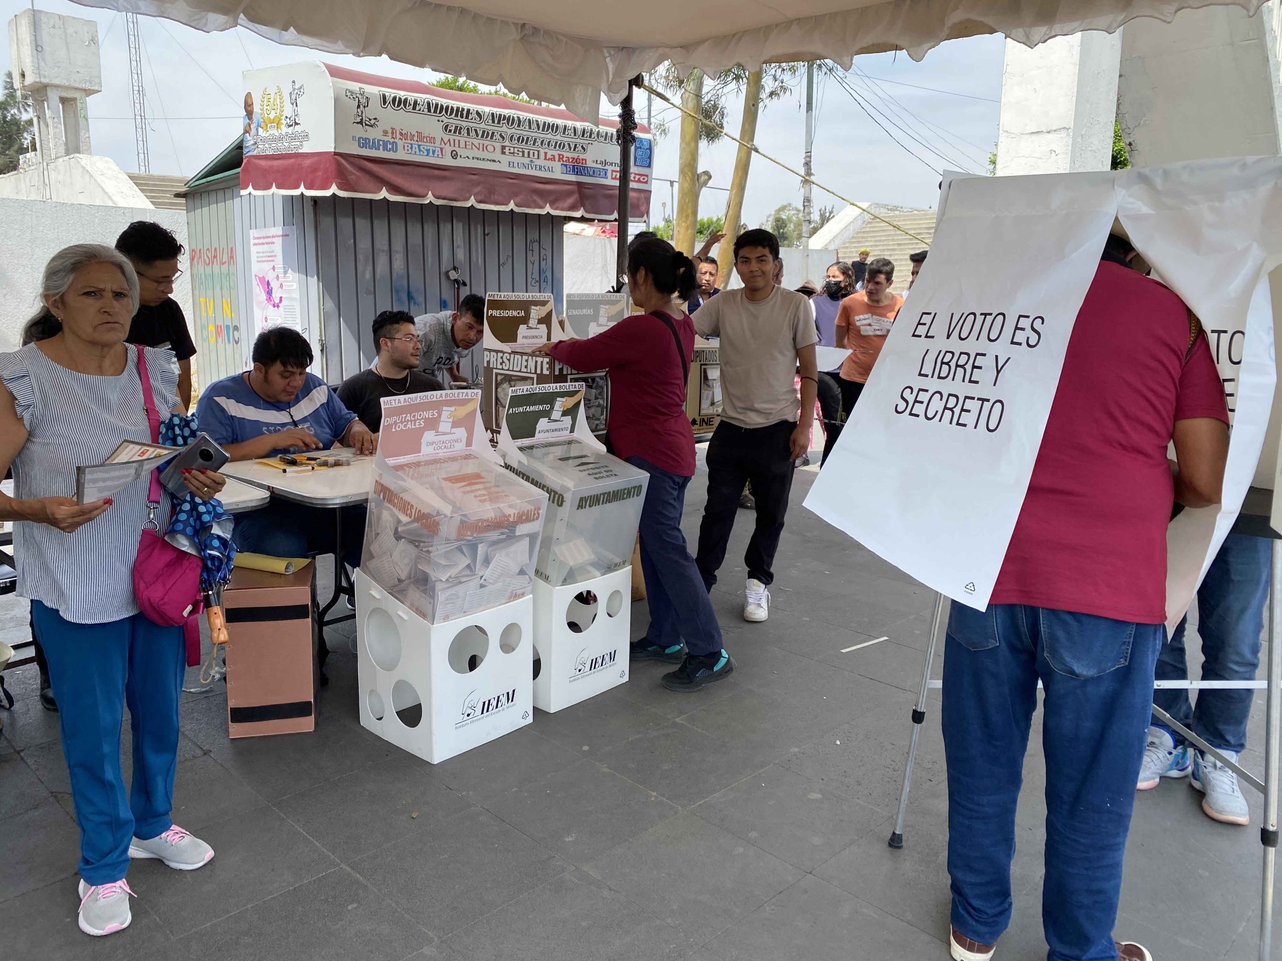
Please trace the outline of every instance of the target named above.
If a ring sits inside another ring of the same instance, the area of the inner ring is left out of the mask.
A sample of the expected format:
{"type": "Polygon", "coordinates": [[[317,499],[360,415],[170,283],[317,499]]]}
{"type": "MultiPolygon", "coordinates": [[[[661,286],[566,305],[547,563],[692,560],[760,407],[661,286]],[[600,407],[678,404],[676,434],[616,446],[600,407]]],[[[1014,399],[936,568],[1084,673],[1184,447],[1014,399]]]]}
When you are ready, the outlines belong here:
{"type": "Polygon", "coordinates": [[[953,926],[995,944],[1010,923],[1024,751],[1046,696],[1050,961],[1117,961],[1122,856],[1165,629],[1046,607],[953,605],[944,651],[953,926]]]}

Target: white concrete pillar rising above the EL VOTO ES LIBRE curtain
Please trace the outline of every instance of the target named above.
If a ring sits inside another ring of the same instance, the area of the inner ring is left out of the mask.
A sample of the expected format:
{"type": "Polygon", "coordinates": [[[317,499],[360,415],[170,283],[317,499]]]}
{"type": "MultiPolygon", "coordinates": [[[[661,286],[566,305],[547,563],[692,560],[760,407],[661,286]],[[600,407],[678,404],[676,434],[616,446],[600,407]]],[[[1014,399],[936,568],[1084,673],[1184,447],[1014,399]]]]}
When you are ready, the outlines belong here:
{"type": "Polygon", "coordinates": [[[1118,33],[1006,41],[997,174],[1106,170],[1117,108],[1118,33]]]}

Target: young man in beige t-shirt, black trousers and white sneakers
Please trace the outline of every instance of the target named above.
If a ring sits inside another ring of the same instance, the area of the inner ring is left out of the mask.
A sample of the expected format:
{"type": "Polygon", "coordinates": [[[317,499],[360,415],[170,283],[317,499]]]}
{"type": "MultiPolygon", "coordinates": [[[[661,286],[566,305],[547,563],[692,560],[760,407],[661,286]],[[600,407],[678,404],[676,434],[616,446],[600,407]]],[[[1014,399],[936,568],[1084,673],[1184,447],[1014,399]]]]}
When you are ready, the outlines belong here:
{"type": "Polygon", "coordinates": [[[818,390],[810,301],[774,284],[778,260],[773,233],[741,233],[735,241],[735,270],[744,286],[722,291],[691,318],[700,334],[720,338],[722,375],[722,419],[708,445],[708,502],[695,561],[712,591],[740,495],[750,482],[756,528],[744,555],[744,618],[754,621],[769,616],[770,565],[783,533],[794,461],[809,447],[818,390]],[[797,370],[800,401],[794,387],[797,370]]]}

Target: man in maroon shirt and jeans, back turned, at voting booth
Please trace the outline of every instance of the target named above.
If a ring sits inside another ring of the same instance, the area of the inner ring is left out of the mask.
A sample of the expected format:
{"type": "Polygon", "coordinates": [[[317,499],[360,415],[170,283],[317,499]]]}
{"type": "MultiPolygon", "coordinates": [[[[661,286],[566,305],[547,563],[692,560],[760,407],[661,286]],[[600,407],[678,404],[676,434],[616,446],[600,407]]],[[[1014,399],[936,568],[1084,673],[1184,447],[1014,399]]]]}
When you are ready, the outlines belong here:
{"type": "Polygon", "coordinates": [[[1113,924],[1165,638],[1167,524],[1173,501],[1219,501],[1228,411],[1196,318],[1132,270],[1133,256],[1109,238],[988,609],[954,604],[949,618],[941,715],[956,961],[991,958],[1010,923],[1038,679],[1047,957],[1151,957],[1115,943],[1113,924]]]}

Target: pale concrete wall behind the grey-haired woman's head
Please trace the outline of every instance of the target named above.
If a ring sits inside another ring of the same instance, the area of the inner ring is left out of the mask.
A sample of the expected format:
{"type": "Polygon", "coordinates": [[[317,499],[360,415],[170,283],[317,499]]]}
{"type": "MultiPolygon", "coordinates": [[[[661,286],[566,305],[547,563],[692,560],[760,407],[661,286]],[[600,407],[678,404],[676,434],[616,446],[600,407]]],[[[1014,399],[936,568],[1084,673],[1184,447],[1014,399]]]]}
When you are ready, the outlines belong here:
{"type": "MultiPolygon", "coordinates": [[[[187,243],[187,215],[182,210],[55,204],[45,200],[0,197],[0,350],[18,346],[22,324],[36,310],[40,278],[49,258],[71,243],[114,243],[131,222],[155,220],[187,243]]],[[[181,260],[187,267],[187,258],[181,260]]],[[[174,300],[191,324],[191,287],[178,278],[174,300]]]]}

